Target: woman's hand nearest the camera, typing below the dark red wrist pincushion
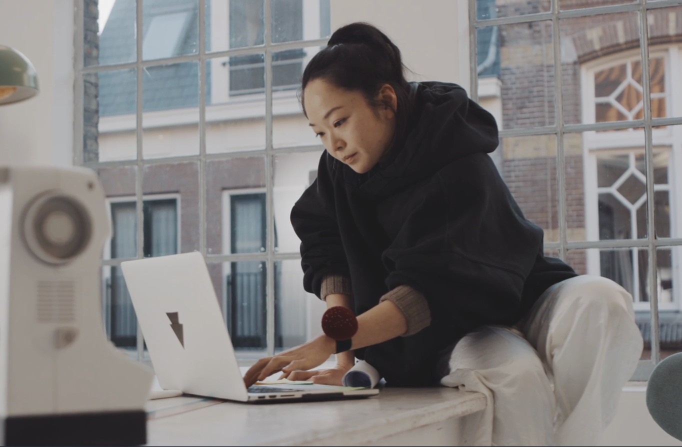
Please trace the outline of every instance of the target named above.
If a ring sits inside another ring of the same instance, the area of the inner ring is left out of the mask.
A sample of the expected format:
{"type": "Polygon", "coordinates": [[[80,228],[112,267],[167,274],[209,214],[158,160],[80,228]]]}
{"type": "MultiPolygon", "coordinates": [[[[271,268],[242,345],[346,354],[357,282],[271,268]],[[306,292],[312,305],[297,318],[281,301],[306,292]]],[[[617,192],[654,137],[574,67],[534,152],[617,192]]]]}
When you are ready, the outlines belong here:
{"type": "Polygon", "coordinates": [[[307,371],[319,366],[329,359],[336,351],[336,341],[326,335],[321,335],[308,343],[288,349],[276,356],[261,358],[244,375],[246,388],[258,380],[264,380],[269,375],[282,373],[289,375],[294,371],[307,371]]]}

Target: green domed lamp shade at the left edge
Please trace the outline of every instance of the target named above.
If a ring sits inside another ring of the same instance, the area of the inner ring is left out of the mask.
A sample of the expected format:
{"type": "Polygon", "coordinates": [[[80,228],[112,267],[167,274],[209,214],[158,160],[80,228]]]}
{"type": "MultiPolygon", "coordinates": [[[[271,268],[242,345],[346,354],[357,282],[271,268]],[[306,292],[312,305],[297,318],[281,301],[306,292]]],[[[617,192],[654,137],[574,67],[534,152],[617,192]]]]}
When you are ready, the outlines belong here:
{"type": "Polygon", "coordinates": [[[38,90],[38,74],[29,59],[0,45],[0,105],[31,98],[38,90]]]}

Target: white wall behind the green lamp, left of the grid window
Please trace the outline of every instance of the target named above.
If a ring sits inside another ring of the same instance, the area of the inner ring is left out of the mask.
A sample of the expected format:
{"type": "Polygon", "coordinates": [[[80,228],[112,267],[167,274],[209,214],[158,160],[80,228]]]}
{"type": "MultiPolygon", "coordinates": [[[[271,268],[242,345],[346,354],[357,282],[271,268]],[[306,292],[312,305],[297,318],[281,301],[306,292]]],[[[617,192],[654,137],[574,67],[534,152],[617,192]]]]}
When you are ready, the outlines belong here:
{"type": "Polygon", "coordinates": [[[29,58],[38,96],[0,106],[1,164],[72,164],[74,0],[0,0],[0,45],[29,58]]]}

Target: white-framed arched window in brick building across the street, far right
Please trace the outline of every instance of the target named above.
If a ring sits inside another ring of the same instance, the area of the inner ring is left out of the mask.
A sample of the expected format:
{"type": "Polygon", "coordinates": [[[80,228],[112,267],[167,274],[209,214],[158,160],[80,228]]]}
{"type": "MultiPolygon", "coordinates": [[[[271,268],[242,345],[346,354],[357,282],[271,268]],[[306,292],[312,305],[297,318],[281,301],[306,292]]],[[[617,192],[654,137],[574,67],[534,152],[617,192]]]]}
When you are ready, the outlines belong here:
{"type": "MultiPolygon", "coordinates": [[[[681,70],[678,45],[651,48],[649,78],[652,118],[674,116],[681,107],[676,98],[682,85],[673,73],[681,70]]],[[[604,57],[582,66],[582,122],[585,124],[644,119],[640,51],[604,57]]],[[[652,129],[655,228],[647,222],[647,177],[644,128],[584,132],[585,220],[587,240],[642,240],[655,231],[657,238],[682,233],[674,166],[682,158],[679,126],[652,129]]],[[[677,248],[657,250],[659,308],[682,308],[682,295],[673,293],[677,248]]],[[[589,274],[606,276],[632,293],[635,308],[649,309],[646,248],[591,250],[589,274]]]]}

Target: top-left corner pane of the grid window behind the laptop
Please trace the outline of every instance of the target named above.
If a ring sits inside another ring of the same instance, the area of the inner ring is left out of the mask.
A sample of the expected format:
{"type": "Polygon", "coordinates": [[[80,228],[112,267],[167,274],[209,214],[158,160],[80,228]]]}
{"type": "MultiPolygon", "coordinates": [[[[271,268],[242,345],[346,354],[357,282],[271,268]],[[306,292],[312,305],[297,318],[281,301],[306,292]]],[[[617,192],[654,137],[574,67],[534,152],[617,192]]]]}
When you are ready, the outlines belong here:
{"type": "Polygon", "coordinates": [[[85,0],[84,65],[110,65],[137,59],[135,0],[85,0]]]}

